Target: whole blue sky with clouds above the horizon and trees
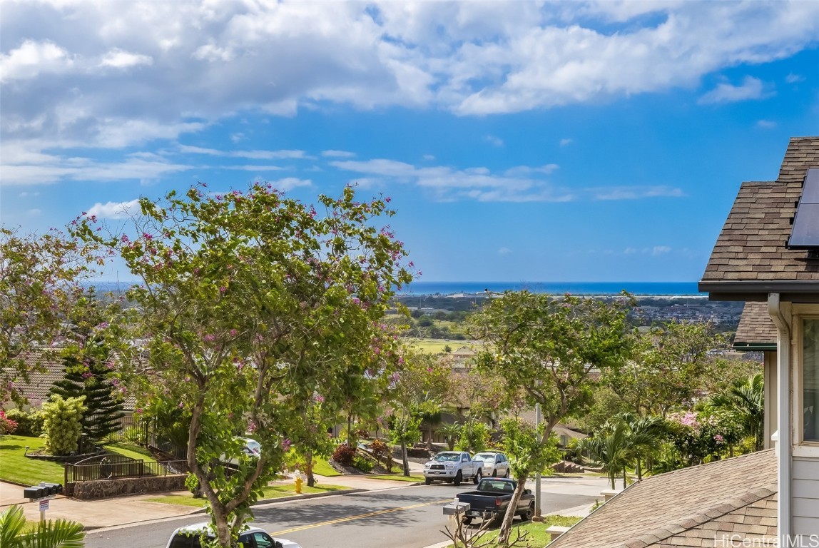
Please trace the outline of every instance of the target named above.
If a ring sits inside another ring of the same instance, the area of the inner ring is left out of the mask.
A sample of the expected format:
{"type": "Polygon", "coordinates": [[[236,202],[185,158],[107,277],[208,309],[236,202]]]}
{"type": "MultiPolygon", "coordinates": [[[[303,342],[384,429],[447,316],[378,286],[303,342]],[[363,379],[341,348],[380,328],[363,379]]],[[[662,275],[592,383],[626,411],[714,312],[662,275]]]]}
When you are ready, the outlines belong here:
{"type": "Polygon", "coordinates": [[[0,9],[23,231],[197,180],[357,183],[425,281],[694,281],[740,183],[819,134],[819,2],[0,9]]]}

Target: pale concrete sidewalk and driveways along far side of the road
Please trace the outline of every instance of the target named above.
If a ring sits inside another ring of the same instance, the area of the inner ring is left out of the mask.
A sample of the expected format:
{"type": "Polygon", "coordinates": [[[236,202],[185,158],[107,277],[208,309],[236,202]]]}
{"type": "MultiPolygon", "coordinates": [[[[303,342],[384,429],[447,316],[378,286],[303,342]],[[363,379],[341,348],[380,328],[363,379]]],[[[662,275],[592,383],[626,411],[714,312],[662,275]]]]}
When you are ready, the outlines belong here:
{"type": "MultiPolygon", "coordinates": [[[[275,483],[290,483],[286,479],[275,483]]],[[[400,482],[384,479],[368,478],[364,475],[346,475],[332,478],[316,475],[319,485],[337,485],[349,487],[354,491],[378,491],[396,487],[409,487],[412,482],[400,482]]],[[[313,495],[295,495],[269,499],[264,502],[292,500],[293,498],[312,498],[315,496],[339,495],[348,491],[331,491],[313,495]]],[[[160,502],[150,502],[152,499],[167,495],[188,495],[189,491],[166,491],[149,493],[146,495],[117,496],[102,500],[75,500],[66,496],[57,496],[49,500],[46,519],[70,519],[79,522],[86,529],[108,528],[129,523],[152,521],[154,519],[174,518],[178,516],[201,512],[193,506],[169,505],[160,502]]],[[[260,504],[263,501],[260,501],[260,504]]],[[[23,508],[25,519],[38,521],[40,519],[39,506],[36,502],[29,502],[23,497],[23,487],[12,483],[0,482],[0,511],[7,510],[11,505],[20,505],[23,508]]]]}

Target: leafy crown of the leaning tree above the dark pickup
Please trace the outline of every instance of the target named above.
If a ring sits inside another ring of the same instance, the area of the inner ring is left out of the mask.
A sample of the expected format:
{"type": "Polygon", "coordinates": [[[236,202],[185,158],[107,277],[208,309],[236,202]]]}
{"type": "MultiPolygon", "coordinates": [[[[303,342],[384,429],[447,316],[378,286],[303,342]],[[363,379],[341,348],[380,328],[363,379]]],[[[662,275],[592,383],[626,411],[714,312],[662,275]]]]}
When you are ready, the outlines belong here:
{"type": "Polygon", "coordinates": [[[554,425],[585,408],[593,370],[619,369],[631,351],[630,297],[612,301],[505,292],[473,316],[486,341],[477,366],[503,379],[509,393],[541,406],[545,439],[554,425]]]}

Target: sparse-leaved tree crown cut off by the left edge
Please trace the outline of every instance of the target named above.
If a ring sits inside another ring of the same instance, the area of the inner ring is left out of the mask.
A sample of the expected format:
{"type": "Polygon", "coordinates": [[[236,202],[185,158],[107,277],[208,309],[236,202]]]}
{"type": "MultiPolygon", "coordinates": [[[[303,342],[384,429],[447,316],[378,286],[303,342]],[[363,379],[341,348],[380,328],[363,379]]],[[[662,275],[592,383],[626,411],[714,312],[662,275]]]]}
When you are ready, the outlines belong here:
{"type": "Polygon", "coordinates": [[[61,335],[64,313],[96,260],[92,247],[56,229],[24,235],[0,227],[0,405],[25,404],[16,383],[29,381],[26,357],[61,335]]]}

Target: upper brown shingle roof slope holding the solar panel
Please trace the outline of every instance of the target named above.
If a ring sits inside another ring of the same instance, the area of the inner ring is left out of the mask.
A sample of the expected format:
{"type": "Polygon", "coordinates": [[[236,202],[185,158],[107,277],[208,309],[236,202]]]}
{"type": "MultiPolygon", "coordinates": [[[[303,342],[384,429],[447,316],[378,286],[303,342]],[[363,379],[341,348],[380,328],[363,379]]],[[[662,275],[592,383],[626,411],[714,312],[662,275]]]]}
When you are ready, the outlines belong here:
{"type": "Polygon", "coordinates": [[[811,167],[819,167],[819,137],[791,138],[776,181],[742,183],[705,267],[706,291],[715,282],[819,282],[819,261],[785,248],[811,167]]]}

